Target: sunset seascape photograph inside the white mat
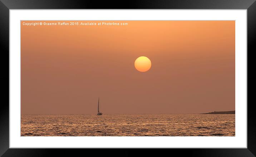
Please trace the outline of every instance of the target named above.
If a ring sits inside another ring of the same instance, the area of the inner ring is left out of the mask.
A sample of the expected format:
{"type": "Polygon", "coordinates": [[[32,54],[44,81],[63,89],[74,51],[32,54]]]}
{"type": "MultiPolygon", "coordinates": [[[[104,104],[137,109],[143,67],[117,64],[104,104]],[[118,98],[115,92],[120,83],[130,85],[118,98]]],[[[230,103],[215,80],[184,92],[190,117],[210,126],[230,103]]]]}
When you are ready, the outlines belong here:
{"type": "Polygon", "coordinates": [[[236,136],[235,20],[21,20],[20,136],[236,136]]]}

